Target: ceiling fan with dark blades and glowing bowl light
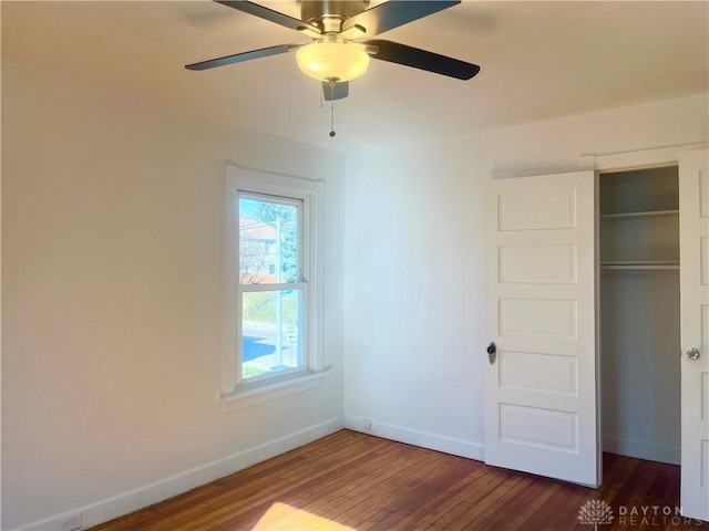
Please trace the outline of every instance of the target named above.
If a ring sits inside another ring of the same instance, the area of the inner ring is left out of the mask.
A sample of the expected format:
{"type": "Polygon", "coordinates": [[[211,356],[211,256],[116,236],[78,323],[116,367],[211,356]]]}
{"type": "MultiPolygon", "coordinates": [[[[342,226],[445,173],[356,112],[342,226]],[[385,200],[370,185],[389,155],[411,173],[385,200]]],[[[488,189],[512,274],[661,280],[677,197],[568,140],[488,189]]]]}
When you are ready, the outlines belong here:
{"type": "Polygon", "coordinates": [[[367,9],[369,0],[297,0],[300,19],[246,0],[215,1],[296,30],[314,42],[279,44],[236,53],[188,64],[185,66],[187,70],[208,70],[296,51],[298,66],[307,75],[322,82],[327,101],[346,97],[349,81],[367,71],[370,58],[459,80],[470,80],[480,72],[476,64],[392,41],[369,39],[451,8],[461,3],[461,0],[389,0],[370,9],[367,9]]]}

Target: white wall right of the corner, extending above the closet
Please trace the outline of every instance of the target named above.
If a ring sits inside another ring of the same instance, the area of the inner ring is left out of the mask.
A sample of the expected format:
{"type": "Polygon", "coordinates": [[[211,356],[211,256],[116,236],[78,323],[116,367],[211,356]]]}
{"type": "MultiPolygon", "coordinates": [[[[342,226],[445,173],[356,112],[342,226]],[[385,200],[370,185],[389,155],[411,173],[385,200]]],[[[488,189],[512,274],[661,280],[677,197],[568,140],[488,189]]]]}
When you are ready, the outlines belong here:
{"type": "Polygon", "coordinates": [[[482,458],[485,181],[706,142],[707,96],[348,155],[346,424],[482,458]]]}

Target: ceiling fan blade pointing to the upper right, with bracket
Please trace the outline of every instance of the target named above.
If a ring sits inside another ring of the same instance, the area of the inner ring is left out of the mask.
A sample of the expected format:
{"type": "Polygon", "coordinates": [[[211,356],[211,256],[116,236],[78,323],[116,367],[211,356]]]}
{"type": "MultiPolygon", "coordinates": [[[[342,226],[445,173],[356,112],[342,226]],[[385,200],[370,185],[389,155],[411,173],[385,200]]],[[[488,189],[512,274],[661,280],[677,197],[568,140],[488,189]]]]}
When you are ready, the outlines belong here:
{"type": "Polygon", "coordinates": [[[459,3],[461,0],[389,0],[347,19],[343,31],[357,24],[373,37],[459,3]]]}

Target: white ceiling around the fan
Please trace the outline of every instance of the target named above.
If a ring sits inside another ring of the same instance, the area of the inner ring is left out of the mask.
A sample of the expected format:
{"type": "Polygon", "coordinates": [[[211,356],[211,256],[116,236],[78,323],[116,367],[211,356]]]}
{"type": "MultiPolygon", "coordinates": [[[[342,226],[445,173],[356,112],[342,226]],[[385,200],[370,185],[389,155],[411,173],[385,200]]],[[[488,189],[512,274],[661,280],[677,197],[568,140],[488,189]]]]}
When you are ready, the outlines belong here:
{"type": "MultiPolygon", "coordinates": [[[[295,0],[267,4],[298,17],[295,0]]],[[[382,38],[480,64],[477,76],[372,61],[336,103],[338,136],[329,138],[329,105],[320,108],[318,82],[292,54],[184,69],[308,42],[292,30],[208,0],[2,1],[0,9],[2,56],[338,150],[709,92],[708,1],[471,0],[382,38]]]]}

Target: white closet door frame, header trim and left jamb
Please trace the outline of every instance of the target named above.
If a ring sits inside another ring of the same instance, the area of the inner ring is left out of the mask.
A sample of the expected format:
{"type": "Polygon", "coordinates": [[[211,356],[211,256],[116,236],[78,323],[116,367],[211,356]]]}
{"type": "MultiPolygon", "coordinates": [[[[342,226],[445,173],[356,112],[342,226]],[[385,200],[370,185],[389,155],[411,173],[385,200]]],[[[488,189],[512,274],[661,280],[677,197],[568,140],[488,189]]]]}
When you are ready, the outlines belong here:
{"type": "MultiPolygon", "coordinates": [[[[636,149],[629,152],[617,152],[607,154],[587,154],[579,155],[579,169],[593,169],[595,171],[596,184],[598,184],[598,175],[602,173],[629,171],[636,169],[648,169],[667,166],[679,165],[679,154],[682,152],[691,152],[697,149],[708,149],[709,143],[679,144],[675,146],[656,147],[649,149],[636,149]]],[[[598,190],[596,190],[596,199],[598,199],[598,190]]],[[[598,204],[596,204],[596,300],[600,301],[600,253],[598,238],[598,204]]],[[[600,304],[596,304],[596,434],[598,437],[598,478],[603,482],[603,418],[602,404],[603,397],[602,379],[603,371],[600,367],[600,304]]],[[[679,348],[679,345],[678,345],[679,348]]],[[[680,470],[681,473],[681,470],[680,470]]]]}

